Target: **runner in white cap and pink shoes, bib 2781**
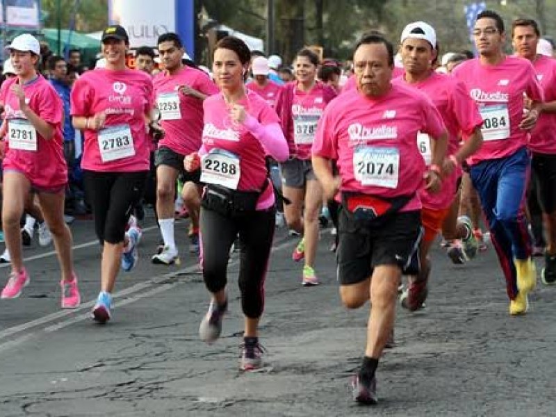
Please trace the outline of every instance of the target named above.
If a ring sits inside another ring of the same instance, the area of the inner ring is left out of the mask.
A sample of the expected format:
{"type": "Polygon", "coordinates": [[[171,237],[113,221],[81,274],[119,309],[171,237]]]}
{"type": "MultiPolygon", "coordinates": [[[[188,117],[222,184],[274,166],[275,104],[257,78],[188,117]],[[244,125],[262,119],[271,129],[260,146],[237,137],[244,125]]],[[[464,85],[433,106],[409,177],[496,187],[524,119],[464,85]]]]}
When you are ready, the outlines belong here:
{"type": "Polygon", "coordinates": [[[62,308],[74,309],[81,297],[72,259],[72,233],[64,222],[67,165],[63,154],[63,103],[52,85],[35,70],[40,58],[38,40],[24,33],[7,49],[17,76],[7,79],[0,90],[4,108],[0,135],[7,140],[2,164],[2,225],[12,263],[1,297],[19,297],[29,284],[19,220],[26,202],[33,201],[29,193],[36,193],[62,271],[62,308]]]}

